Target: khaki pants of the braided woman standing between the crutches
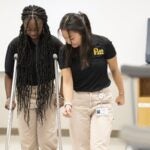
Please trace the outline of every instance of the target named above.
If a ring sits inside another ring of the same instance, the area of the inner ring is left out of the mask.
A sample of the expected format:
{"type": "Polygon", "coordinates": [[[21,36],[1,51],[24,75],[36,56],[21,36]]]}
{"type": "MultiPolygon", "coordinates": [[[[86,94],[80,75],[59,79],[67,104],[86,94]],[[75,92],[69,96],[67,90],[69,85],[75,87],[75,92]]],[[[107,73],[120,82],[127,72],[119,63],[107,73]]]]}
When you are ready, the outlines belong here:
{"type": "Polygon", "coordinates": [[[43,124],[37,120],[35,90],[33,90],[30,108],[29,126],[24,120],[24,112],[19,112],[19,135],[21,150],[56,150],[57,149],[57,128],[56,108],[51,106],[46,110],[46,119],[43,124]]]}

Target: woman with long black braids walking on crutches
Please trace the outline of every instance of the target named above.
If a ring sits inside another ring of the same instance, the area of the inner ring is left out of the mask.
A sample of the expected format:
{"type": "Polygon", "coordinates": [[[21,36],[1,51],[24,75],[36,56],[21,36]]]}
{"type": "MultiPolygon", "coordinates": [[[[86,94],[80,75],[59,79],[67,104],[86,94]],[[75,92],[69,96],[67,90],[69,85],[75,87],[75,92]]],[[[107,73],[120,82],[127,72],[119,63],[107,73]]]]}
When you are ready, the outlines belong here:
{"type": "MultiPolygon", "coordinates": [[[[20,34],[10,42],[5,59],[5,108],[9,109],[13,56],[18,54],[17,112],[22,150],[57,149],[53,54],[58,54],[61,46],[50,33],[45,10],[35,5],[25,7],[20,34]]],[[[14,100],[12,109],[15,105],[14,100]]]]}

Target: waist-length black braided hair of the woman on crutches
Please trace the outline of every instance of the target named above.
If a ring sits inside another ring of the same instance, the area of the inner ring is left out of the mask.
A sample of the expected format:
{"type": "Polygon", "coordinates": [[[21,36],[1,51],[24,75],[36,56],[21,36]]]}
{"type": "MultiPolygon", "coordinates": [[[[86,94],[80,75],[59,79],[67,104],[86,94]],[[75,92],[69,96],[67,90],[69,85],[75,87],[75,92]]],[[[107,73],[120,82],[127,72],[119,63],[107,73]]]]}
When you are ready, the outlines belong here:
{"type": "Polygon", "coordinates": [[[18,42],[18,67],[17,67],[17,93],[18,111],[25,112],[25,120],[29,123],[30,99],[32,93],[32,69],[33,69],[33,49],[31,39],[26,34],[24,23],[34,18],[37,28],[38,20],[43,22],[43,30],[36,45],[36,74],[37,74],[37,116],[43,121],[45,110],[50,104],[53,93],[53,49],[51,34],[47,25],[47,15],[43,8],[39,6],[27,6],[23,9],[19,42],[18,42]]]}

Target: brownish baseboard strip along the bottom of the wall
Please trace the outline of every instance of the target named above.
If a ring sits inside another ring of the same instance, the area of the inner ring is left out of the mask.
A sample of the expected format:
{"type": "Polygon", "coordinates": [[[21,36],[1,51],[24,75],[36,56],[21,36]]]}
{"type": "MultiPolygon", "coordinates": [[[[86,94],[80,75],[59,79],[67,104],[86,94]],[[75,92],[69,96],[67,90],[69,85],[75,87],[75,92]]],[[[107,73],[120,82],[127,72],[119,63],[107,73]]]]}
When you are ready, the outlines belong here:
{"type": "MultiPolygon", "coordinates": [[[[6,128],[0,128],[0,135],[6,134],[6,128]]],[[[11,129],[11,135],[18,135],[18,129],[12,128],[11,129]]],[[[69,130],[68,129],[62,129],[62,136],[68,137],[69,136],[69,130]]],[[[111,133],[111,137],[118,137],[119,136],[119,130],[113,130],[111,133]]]]}

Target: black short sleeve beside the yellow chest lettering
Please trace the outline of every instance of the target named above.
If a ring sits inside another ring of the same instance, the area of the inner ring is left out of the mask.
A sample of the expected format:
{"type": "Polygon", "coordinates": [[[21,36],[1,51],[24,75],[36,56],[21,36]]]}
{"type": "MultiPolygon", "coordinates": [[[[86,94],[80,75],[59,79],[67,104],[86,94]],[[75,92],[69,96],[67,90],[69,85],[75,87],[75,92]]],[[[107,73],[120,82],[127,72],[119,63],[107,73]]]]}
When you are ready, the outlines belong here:
{"type": "Polygon", "coordinates": [[[105,45],[105,58],[110,59],[116,56],[116,50],[111,41],[108,41],[105,45]]]}

